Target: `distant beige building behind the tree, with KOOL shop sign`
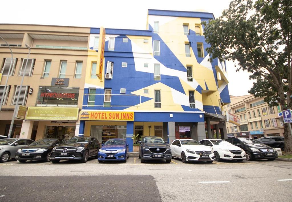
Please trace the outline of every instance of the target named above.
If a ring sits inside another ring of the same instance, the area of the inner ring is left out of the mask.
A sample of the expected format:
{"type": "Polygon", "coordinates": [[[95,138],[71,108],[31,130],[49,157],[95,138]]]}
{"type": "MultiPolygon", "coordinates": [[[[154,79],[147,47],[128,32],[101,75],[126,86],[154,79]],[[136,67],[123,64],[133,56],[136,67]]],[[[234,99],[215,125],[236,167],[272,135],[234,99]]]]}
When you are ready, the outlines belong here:
{"type": "Polygon", "coordinates": [[[262,97],[253,95],[230,96],[227,110],[240,120],[240,126],[226,122],[229,137],[283,136],[283,119],[280,107],[269,107],[262,97]]]}

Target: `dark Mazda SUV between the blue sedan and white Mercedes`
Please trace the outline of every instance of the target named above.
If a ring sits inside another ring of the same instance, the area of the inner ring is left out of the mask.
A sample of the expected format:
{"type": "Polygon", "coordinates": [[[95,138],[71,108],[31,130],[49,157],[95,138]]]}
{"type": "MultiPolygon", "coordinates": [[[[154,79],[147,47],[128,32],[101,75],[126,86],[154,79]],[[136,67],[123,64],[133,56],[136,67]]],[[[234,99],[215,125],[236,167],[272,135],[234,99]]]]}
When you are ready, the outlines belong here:
{"type": "Polygon", "coordinates": [[[164,159],[166,163],[171,162],[171,149],[169,144],[161,137],[145,136],[139,143],[139,159],[141,159],[141,163],[151,159],[164,159]]]}

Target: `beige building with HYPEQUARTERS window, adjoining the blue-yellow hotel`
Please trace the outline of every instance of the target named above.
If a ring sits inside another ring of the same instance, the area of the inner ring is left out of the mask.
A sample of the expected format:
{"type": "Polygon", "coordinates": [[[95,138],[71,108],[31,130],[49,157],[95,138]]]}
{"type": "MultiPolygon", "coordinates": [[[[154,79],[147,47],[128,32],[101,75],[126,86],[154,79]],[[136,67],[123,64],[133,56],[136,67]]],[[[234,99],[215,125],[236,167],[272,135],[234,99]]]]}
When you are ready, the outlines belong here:
{"type": "Polygon", "coordinates": [[[11,137],[69,139],[75,135],[82,108],[89,33],[90,28],[85,27],[0,24],[0,36],[13,51],[9,72],[11,52],[0,38],[0,94],[4,96],[0,135],[8,135],[18,94],[19,105],[36,108],[29,109],[30,120],[15,119],[11,137]],[[25,44],[31,48],[29,59],[25,44]]]}

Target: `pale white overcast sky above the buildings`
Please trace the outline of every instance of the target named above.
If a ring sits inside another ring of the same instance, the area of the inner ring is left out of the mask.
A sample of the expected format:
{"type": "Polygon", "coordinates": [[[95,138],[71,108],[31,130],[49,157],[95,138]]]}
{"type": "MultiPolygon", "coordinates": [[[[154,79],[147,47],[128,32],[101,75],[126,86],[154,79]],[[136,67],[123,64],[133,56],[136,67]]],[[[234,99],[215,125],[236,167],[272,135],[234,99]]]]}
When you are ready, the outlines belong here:
{"type": "MultiPolygon", "coordinates": [[[[146,29],[147,9],[205,11],[218,18],[229,3],[230,0],[2,1],[0,23],[146,29]]],[[[232,62],[227,62],[227,73],[230,95],[248,95],[253,85],[249,73],[236,72],[232,62]]]]}

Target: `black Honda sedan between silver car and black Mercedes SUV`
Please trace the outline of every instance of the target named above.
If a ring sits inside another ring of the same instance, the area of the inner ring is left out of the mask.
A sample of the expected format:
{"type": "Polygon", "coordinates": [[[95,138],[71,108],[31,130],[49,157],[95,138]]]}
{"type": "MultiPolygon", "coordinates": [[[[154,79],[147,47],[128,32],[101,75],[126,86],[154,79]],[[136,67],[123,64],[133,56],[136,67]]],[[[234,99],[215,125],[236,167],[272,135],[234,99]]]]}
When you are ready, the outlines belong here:
{"type": "Polygon", "coordinates": [[[40,139],[26,147],[18,149],[15,159],[20,163],[25,161],[43,160],[45,162],[51,161],[51,152],[53,147],[66,142],[64,139],[40,139]]]}

